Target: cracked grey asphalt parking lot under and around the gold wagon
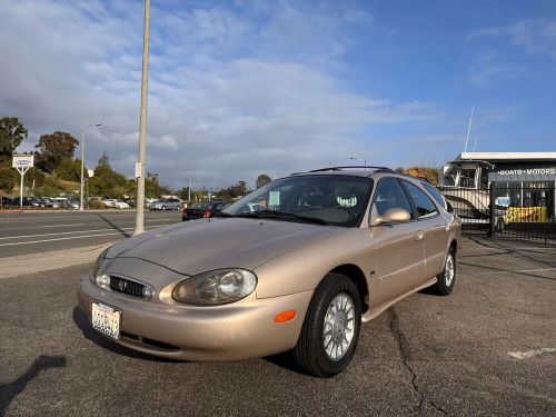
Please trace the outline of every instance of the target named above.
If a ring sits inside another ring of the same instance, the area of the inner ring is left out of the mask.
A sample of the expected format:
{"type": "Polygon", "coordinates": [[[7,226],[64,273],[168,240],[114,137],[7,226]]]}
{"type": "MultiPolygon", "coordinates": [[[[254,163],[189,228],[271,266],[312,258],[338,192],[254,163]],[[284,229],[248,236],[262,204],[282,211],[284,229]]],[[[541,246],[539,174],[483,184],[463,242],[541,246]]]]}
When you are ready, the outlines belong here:
{"type": "Polygon", "coordinates": [[[117,347],[77,307],[89,265],[0,279],[0,416],[556,415],[556,247],[465,239],[450,297],[361,329],[331,379],[287,355],[178,363],[117,347]]]}

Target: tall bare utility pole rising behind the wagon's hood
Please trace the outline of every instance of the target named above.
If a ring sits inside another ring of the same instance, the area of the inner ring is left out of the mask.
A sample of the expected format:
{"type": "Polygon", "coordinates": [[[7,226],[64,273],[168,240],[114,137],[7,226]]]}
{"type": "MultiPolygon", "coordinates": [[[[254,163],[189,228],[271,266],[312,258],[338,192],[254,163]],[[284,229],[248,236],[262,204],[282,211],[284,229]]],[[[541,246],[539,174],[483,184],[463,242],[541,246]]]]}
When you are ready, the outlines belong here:
{"type": "Polygon", "coordinates": [[[150,0],[145,0],[145,28],[142,38],[141,113],[139,118],[139,160],[136,163],[137,215],[136,231],[145,231],[145,159],[147,150],[147,89],[149,80],[149,21],[150,0]]]}

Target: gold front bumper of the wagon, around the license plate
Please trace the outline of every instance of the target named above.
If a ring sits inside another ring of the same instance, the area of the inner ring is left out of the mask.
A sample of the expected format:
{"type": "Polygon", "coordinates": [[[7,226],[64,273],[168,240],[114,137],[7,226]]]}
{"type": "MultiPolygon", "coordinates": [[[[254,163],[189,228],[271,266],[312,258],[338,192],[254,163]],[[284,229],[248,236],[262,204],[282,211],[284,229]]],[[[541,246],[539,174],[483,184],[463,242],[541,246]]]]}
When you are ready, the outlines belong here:
{"type": "Polygon", "coordinates": [[[183,360],[225,361],[269,356],[291,349],[301,330],[312,290],[257,299],[255,294],[216,307],[173,306],[107,291],[81,279],[78,299],[91,320],[91,301],[121,310],[119,345],[146,354],[183,360]],[[277,314],[296,317],[277,324],[277,314]]]}

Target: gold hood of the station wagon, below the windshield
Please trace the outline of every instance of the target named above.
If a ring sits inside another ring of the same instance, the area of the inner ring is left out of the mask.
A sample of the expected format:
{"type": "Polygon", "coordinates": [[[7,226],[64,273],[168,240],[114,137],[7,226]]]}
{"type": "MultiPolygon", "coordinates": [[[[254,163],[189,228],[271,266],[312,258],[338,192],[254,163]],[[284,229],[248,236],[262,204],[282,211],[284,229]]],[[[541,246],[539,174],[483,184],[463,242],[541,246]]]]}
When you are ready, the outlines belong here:
{"type": "Polygon", "coordinates": [[[255,269],[339,227],[267,219],[212,218],[151,230],[110,248],[107,258],[139,258],[179,274],[219,268],[255,269]]]}

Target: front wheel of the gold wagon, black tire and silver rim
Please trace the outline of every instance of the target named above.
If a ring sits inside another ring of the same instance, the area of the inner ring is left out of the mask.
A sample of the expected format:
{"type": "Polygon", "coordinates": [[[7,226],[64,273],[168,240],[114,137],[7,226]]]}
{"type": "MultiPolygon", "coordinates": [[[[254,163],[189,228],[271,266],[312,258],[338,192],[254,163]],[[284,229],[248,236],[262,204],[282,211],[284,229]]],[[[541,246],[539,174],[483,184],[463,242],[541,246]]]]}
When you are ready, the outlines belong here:
{"type": "Polygon", "coordinates": [[[292,350],[294,358],[310,375],[332,377],[351,360],[360,326],[361,305],[356,285],[345,275],[328,274],[315,290],[292,350]],[[339,339],[347,345],[337,344],[339,339]]]}

